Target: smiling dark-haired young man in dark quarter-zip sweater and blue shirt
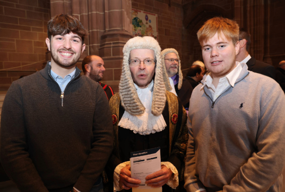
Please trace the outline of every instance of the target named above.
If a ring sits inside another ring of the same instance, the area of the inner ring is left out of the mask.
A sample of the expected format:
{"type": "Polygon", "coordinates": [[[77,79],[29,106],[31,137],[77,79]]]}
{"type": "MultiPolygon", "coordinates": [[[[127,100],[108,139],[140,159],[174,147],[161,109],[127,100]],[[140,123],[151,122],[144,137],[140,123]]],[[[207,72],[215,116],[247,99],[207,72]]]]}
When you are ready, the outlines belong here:
{"type": "Polygon", "coordinates": [[[1,163],[21,192],[97,192],[113,127],[103,89],[76,67],[88,33],[67,14],[47,27],[51,61],[14,81],[4,99],[1,163]]]}

